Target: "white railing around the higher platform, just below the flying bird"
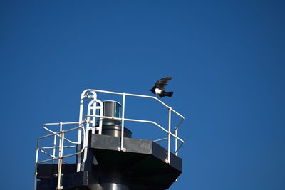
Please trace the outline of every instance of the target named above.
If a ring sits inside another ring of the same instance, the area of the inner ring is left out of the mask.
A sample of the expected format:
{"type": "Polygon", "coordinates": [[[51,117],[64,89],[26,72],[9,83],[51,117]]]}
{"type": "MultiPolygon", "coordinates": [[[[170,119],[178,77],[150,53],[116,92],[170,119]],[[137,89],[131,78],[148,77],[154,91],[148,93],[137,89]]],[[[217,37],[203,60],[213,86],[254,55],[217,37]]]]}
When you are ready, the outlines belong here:
{"type": "MultiPolygon", "coordinates": [[[[107,119],[115,119],[115,120],[120,120],[121,121],[121,137],[120,138],[120,147],[118,147],[119,151],[125,151],[124,148],[124,127],[125,127],[125,121],[130,121],[130,122],[145,122],[145,123],[150,123],[152,125],[157,126],[158,128],[160,128],[163,132],[167,133],[167,137],[163,138],[163,139],[157,139],[155,140],[155,142],[159,142],[162,140],[167,140],[167,160],[166,162],[170,164],[170,152],[171,152],[171,137],[175,138],[175,155],[178,155],[178,150],[182,147],[182,145],[184,144],[184,141],[178,137],[178,129],[180,127],[180,125],[182,124],[183,120],[185,120],[185,117],[183,115],[181,115],[179,112],[175,111],[172,107],[168,106],[167,104],[165,104],[165,102],[162,102],[160,99],[158,99],[157,97],[153,97],[153,96],[149,96],[149,95],[137,95],[137,94],[130,94],[130,93],[118,93],[118,92],[113,92],[113,91],[106,91],[106,90],[95,90],[95,89],[87,89],[84,90],[83,93],[81,93],[81,107],[80,107],[80,116],[79,116],[79,121],[83,120],[83,100],[84,98],[93,98],[93,100],[97,100],[97,93],[108,93],[108,94],[113,94],[113,95],[122,95],[123,96],[123,100],[122,100],[122,116],[120,118],[118,117],[107,117],[107,116],[103,116],[103,115],[86,115],[86,117],[90,118],[90,117],[98,117],[100,119],[102,118],[107,118],[107,119]],[[89,95],[88,93],[92,93],[92,95],[89,95]],[[168,109],[168,126],[167,129],[165,129],[164,127],[162,127],[161,125],[157,124],[157,122],[153,122],[150,120],[135,120],[135,119],[131,119],[131,118],[125,118],[125,98],[126,96],[133,96],[133,97],[145,97],[148,99],[152,99],[152,100],[156,100],[157,102],[160,102],[160,104],[164,105],[165,107],[167,107],[168,109]],[[175,113],[176,115],[178,115],[181,120],[180,122],[174,127],[174,130],[172,132],[172,126],[171,126],[171,115],[172,112],[175,113]],[[180,146],[178,146],[178,141],[180,141],[180,146]]],[[[87,130],[86,130],[87,131],[87,130]]],[[[81,130],[79,129],[78,132],[78,137],[81,134],[81,130]]],[[[86,134],[88,135],[88,134],[86,134]]],[[[78,138],[78,143],[79,142],[79,138],[78,138]]],[[[78,155],[79,156],[79,155],[78,155]]],[[[80,171],[80,164],[81,162],[78,163],[78,171],[80,171]]]]}

